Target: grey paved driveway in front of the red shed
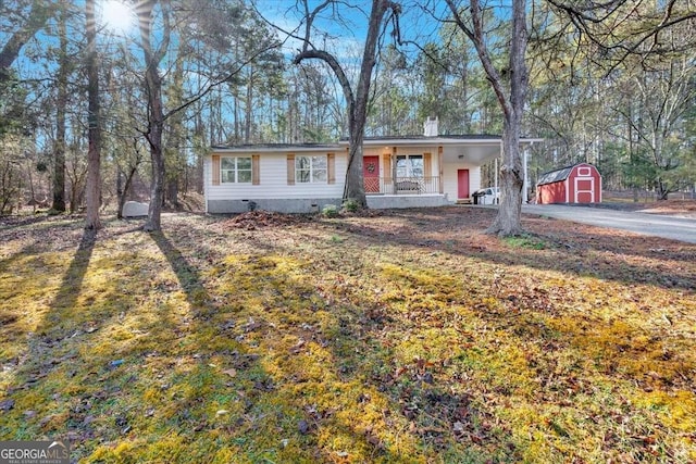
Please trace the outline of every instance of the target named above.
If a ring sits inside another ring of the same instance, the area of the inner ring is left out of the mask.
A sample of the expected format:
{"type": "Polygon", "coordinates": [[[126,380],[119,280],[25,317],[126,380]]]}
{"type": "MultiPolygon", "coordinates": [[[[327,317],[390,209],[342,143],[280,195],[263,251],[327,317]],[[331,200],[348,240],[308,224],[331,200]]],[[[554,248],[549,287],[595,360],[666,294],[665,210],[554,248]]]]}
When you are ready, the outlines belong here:
{"type": "Polygon", "coordinates": [[[696,243],[696,218],[560,204],[524,204],[522,213],[696,243]]]}

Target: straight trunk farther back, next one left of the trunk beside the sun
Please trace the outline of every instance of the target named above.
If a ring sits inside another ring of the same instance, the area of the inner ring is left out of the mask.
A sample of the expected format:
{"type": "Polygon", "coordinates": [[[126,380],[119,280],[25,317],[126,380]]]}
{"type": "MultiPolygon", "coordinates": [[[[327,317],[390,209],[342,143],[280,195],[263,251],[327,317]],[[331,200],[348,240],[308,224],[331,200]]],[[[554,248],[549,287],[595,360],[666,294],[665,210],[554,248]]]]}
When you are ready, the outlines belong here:
{"type": "Polygon", "coordinates": [[[62,2],[58,22],[60,58],[58,68],[58,96],[55,101],[55,146],[53,148],[53,211],[65,211],[65,106],[67,105],[67,34],[65,32],[66,2],[62,2]]]}

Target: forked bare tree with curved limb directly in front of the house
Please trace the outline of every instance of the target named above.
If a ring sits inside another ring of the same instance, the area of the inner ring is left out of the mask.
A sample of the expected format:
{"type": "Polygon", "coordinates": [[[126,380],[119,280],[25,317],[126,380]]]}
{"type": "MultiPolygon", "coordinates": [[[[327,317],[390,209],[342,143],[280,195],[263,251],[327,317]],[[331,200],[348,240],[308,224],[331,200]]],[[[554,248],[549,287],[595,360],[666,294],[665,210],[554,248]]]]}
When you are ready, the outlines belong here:
{"type": "Polygon", "coordinates": [[[368,117],[368,103],[370,100],[370,85],[372,71],[376,64],[377,41],[383,24],[388,12],[390,18],[398,25],[398,16],[401,12],[400,4],[390,0],[372,0],[372,10],[368,20],[368,33],[360,64],[358,85],[353,87],[336,57],[326,50],[318,49],[311,40],[311,33],[316,15],[330,7],[335,7],[337,1],[326,0],[310,11],[307,0],[304,7],[304,37],[302,50],[295,57],[295,64],[303,60],[316,59],[324,61],[334,72],[340,83],[348,106],[348,170],[346,173],[346,187],[344,199],[356,200],[363,208],[366,206],[365,188],[362,174],[362,141],[364,138],[365,120],[368,117]]]}

